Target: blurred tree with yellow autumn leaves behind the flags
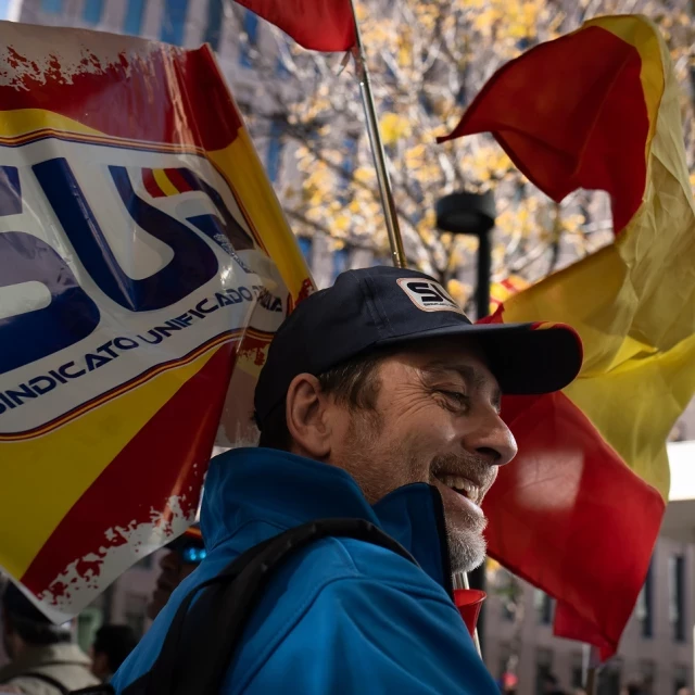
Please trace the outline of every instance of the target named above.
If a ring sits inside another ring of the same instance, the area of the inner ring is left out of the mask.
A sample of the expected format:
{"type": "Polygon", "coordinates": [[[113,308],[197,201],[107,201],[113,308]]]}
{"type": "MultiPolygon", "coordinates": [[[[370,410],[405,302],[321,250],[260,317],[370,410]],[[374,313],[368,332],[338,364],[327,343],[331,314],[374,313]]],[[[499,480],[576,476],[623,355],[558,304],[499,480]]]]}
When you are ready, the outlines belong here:
{"type": "MultiPolygon", "coordinates": [[[[634,11],[655,16],[665,3],[637,0],[634,11]]],[[[612,12],[614,4],[594,0],[592,12],[612,12]]],[[[439,232],[434,215],[437,201],[459,190],[495,193],[493,281],[515,274],[534,281],[552,269],[554,245],[563,247],[559,255],[567,263],[610,239],[609,205],[592,193],[556,205],[526,180],[490,136],[435,143],[496,68],[526,48],[576,28],[579,9],[572,20],[563,3],[548,0],[399,0],[361,2],[357,8],[412,265],[445,282],[462,304],[470,298],[477,241],[439,232]]],[[[687,80],[695,31],[681,17],[673,18],[669,29],[687,80]]],[[[295,149],[299,176],[290,181],[286,198],[292,225],[300,235],[323,233],[336,247],[369,248],[377,260],[388,257],[352,68],[336,78],[337,60],[313,60],[320,67],[316,76],[327,77],[317,77],[290,106],[293,125],[313,128],[295,149]]],[[[684,119],[686,132],[690,126],[695,135],[692,105],[684,108],[684,119]]],[[[695,186],[695,175],[692,180],[695,186]]]]}

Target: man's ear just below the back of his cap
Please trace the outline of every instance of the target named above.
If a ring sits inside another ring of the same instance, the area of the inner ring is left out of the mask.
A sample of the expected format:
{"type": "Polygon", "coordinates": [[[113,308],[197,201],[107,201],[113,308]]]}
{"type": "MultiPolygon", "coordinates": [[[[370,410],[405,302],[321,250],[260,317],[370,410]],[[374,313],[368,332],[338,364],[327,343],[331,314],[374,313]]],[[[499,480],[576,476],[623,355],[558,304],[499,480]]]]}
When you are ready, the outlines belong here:
{"type": "Polygon", "coordinates": [[[292,379],[285,407],[294,453],[315,460],[329,456],[331,428],[327,405],[328,399],[315,376],[300,374],[292,379]]]}

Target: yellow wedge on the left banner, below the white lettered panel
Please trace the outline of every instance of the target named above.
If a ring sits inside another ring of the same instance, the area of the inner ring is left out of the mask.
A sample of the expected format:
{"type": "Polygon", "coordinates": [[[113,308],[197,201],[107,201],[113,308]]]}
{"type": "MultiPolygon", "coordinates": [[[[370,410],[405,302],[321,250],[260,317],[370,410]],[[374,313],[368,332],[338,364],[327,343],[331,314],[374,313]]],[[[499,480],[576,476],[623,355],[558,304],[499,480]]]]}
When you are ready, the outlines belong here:
{"type": "Polygon", "coordinates": [[[3,443],[0,566],[22,577],[84,492],[215,352],[165,371],[50,435],[3,443]],[[70,462],[70,475],[60,462],[70,462]]]}

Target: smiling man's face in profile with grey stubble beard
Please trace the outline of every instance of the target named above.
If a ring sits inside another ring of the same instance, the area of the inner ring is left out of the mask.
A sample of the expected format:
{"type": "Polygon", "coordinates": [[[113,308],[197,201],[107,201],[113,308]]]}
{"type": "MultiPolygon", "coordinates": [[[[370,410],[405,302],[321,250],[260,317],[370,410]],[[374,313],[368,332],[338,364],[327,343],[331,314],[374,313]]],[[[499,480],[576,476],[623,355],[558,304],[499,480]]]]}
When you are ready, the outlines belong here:
{"type": "Polygon", "coordinates": [[[497,381],[476,346],[448,340],[384,358],[378,378],[376,413],[334,405],[344,420],[329,463],[348,470],[372,504],[402,485],[434,485],[452,569],[473,569],[485,555],[480,503],[517,452],[500,418],[497,381]]]}

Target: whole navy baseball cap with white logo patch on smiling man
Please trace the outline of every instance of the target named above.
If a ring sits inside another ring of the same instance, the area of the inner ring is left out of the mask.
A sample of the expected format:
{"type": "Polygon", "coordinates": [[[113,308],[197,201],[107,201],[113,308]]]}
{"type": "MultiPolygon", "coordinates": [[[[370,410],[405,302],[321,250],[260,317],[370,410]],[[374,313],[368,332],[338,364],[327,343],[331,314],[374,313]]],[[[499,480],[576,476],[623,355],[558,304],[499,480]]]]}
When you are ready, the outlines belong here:
{"type": "Polygon", "coordinates": [[[579,374],[582,343],[565,324],[473,324],[446,290],[417,270],[348,270],[280,326],[255,390],[258,427],[299,374],[318,376],[372,350],[438,338],[475,338],[506,394],[559,391],[579,374]]]}

